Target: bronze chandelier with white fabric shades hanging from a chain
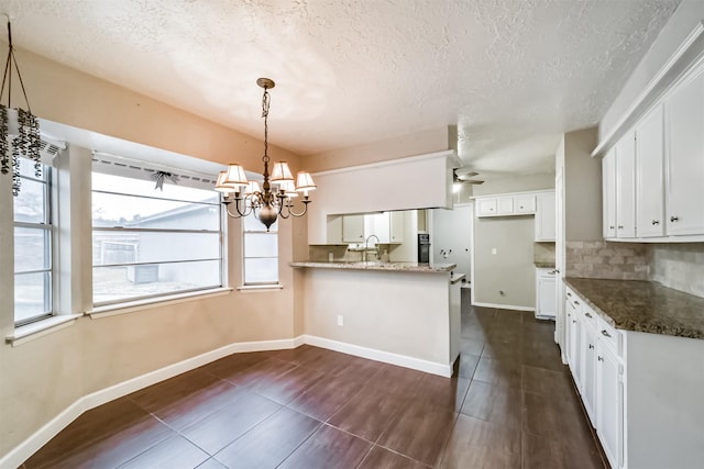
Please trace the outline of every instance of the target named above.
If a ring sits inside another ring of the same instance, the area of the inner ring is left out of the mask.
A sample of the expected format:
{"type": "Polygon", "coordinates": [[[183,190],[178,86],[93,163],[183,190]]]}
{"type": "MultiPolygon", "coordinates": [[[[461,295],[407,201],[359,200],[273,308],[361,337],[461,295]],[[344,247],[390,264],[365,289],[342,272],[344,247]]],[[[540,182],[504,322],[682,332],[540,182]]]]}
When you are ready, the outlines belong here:
{"type": "Polygon", "coordinates": [[[316,183],[310,172],[300,171],[297,175],[296,183],[286,161],[274,163],[272,174],[268,172],[268,89],[274,88],[275,83],[268,78],[260,78],[256,85],[264,88],[262,96],[262,118],[264,118],[264,181],[262,187],[257,181],[249,181],[241,165],[230,164],[228,169],[220,171],[216,190],[223,193],[222,203],[226,205],[228,215],[233,219],[246,216],[254,213],[268,232],[278,216],[288,219],[289,216],[304,216],[308,211],[310,199],[308,192],[316,189],[316,183]],[[294,211],[294,199],[298,193],[302,192],[302,210],[294,211]],[[230,210],[230,205],[234,205],[234,213],[230,210]]]}

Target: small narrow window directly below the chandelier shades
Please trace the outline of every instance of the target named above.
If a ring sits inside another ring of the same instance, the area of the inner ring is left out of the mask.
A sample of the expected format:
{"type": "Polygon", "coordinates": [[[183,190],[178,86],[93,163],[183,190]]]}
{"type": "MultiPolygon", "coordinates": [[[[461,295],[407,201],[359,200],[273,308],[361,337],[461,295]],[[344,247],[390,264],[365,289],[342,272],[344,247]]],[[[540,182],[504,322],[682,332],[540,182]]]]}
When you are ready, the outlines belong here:
{"type": "Polygon", "coordinates": [[[244,284],[278,283],[278,221],[268,233],[254,214],[242,219],[244,245],[244,284]]]}

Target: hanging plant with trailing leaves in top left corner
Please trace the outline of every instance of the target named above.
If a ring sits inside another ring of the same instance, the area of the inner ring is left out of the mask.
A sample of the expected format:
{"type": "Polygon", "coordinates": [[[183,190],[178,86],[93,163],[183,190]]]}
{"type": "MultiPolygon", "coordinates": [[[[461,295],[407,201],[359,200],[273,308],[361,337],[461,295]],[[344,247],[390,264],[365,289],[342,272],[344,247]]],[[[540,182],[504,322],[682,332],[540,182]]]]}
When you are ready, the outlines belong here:
{"type": "Polygon", "coordinates": [[[42,164],[40,159],[41,139],[40,123],[32,110],[30,100],[26,98],[20,67],[14,56],[12,45],[12,27],[10,16],[8,19],[8,59],[4,64],[4,75],[2,76],[2,87],[0,88],[0,100],[8,92],[8,105],[0,102],[0,172],[7,175],[12,167],[12,193],[16,197],[20,193],[20,157],[25,157],[34,161],[34,172],[37,178],[42,176],[42,164]],[[21,108],[12,108],[12,68],[14,66],[26,111],[21,108]],[[7,88],[6,88],[7,86],[7,88]]]}

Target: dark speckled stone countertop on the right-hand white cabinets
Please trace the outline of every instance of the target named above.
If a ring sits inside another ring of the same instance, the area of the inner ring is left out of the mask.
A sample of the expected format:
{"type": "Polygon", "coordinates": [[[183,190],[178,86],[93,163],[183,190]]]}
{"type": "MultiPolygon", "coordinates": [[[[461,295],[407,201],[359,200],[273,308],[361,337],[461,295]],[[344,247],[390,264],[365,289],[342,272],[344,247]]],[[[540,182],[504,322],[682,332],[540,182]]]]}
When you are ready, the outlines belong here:
{"type": "Polygon", "coordinates": [[[564,282],[617,328],[704,339],[704,298],[644,280],[568,277],[564,282]]]}

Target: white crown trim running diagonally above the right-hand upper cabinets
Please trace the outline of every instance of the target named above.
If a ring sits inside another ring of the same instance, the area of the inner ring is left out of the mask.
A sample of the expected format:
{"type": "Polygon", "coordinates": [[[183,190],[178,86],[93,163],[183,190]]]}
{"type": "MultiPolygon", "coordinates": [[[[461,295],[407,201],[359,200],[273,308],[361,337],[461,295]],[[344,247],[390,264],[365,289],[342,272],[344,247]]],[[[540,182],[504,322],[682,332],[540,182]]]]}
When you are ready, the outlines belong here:
{"type": "Polygon", "coordinates": [[[664,96],[680,77],[690,70],[702,54],[702,49],[704,48],[702,44],[703,40],[704,21],[700,21],[676,51],[674,51],[668,62],[666,62],[660,70],[652,77],[640,94],[638,94],[612,131],[603,138],[600,138],[596,148],[592,152],[592,157],[598,156],[612,147],[627,129],[645,115],[648,109],[650,109],[660,97],[664,96]],[[695,54],[694,58],[691,57],[692,54],[695,54]]]}

